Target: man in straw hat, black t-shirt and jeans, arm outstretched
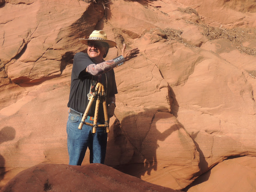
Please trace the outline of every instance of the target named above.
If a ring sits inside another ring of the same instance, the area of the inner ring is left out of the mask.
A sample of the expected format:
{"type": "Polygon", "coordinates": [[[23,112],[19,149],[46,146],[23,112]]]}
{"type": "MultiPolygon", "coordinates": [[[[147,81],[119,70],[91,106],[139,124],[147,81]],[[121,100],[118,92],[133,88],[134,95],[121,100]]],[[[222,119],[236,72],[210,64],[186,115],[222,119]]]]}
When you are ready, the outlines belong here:
{"type": "MultiPolygon", "coordinates": [[[[107,56],[108,49],[116,46],[114,41],[107,39],[104,31],[95,30],[88,39],[79,39],[79,41],[88,45],[88,49],[87,53],[76,53],[71,73],[68,101],[70,110],[67,122],[69,164],[81,165],[87,147],[90,150],[90,163],[104,164],[108,138],[105,128],[97,127],[96,133],[92,133],[91,126],[84,124],[82,130],[78,129],[78,126],[98,82],[104,85],[108,118],[114,115],[117,88],[113,68],[135,57],[139,49],[126,51],[124,44],[121,56],[104,61],[103,58],[107,56]]],[[[93,124],[94,111],[95,102],[92,103],[85,122],[93,124]]],[[[104,124],[104,122],[103,106],[100,105],[97,124],[104,124]]]]}

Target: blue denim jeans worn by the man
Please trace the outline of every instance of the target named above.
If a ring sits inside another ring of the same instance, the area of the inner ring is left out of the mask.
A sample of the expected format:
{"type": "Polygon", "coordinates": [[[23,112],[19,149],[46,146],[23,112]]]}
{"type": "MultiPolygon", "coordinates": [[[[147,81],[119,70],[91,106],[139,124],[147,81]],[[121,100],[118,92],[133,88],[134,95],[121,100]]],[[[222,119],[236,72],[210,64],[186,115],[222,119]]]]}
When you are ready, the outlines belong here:
{"type": "MultiPolygon", "coordinates": [[[[68,115],[67,133],[68,133],[68,155],[70,165],[81,165],[87,147],[90,150],[90,163],[104,164],[108,133],[105,128],[97,127],[96,133],[92,133],[92,127],[83,125],[82,130],[78,126],[82,120],[81,116],[71,113],[68,115]]],[[[85,122],[92,123],[88,119],[85,122]]],[[[97,124],[104,124],[98,122],[97,124]]]]}

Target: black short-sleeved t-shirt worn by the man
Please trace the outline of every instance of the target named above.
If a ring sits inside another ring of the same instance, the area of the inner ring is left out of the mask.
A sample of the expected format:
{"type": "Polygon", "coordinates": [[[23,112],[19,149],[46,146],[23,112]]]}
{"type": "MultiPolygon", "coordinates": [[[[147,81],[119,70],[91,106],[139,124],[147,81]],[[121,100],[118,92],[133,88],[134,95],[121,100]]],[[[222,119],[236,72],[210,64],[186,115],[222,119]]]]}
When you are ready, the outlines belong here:
{"type": "MultiPolygon", "coordinates": [[[[68,107],[84,113],[89,100],[87,94],[90,93],[91,86],[98,81],[98,76],[92,76],[87,73],[85,69],[88,65],[94,64],[93,60],[87,53],[79,52],[74,56],[73,68],[71,73],[71,86],[68,107]]],[[[101,75],[102,83],[104,85],[105,93],[107,91],[107,100],[109,97],[117,93],[116,80],[114,70],[111,69],[105,74],[101,75]],[[107,81],[106,81],[107,78],[107,81]],[[107,88],[106,88],[107,87],[107,88]]],[[[93,90],[94,92],[94,90],[93,90]]],[[[92,103],[88,116],[94,116],[96,102],[92,103]]],[[[108,103],[107,103],[108,105],[108,103]]],[[[104,122],[103,106],[100,103],[98,120],[104,122]]]]}

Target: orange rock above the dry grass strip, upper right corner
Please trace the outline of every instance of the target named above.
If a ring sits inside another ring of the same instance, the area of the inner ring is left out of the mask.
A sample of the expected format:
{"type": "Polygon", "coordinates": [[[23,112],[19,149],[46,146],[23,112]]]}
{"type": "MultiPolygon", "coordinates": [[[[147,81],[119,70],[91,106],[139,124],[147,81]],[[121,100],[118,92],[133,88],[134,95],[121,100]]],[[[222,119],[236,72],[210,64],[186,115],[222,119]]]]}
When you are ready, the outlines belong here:
{"type": "MultiPolygon", "coordinates": [[[[178,0],[181,6],[190,6],[203,16],[203,21],[212,26],[221,25],[232,27],[254,27],[255,22],[255,2],[245,1],[204,1],[204,0],[178,0]],[[232,17],[231,17],[232,15],[232,17]]],[[[223,27],[222,26],[222,27],[223,27]]]]}

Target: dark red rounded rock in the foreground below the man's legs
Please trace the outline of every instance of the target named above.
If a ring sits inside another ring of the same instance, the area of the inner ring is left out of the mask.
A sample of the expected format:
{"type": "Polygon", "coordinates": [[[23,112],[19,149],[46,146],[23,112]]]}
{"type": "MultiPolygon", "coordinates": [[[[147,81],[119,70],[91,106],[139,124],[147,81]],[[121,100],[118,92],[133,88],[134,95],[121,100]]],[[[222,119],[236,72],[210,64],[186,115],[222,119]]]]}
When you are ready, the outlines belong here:
{"type": "Polygon", "coordinates": [[[103,164],[39,164],[20,172],[1,192],[25,191],[158,191],[179,192],[151,184],[103,164]]]}

